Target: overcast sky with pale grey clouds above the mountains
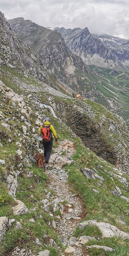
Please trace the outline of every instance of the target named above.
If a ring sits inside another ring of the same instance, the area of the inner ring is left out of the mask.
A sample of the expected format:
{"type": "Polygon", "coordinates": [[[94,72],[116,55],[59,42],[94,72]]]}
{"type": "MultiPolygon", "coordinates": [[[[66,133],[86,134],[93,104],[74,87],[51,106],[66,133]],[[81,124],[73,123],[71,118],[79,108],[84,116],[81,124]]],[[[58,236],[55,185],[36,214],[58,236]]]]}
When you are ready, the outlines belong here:
{"type": "Polygon", "coordinates": [[[0,0],[7,19],[23,17],[43,27],[85,28],[129,39],[129,0],[0,0]]]}

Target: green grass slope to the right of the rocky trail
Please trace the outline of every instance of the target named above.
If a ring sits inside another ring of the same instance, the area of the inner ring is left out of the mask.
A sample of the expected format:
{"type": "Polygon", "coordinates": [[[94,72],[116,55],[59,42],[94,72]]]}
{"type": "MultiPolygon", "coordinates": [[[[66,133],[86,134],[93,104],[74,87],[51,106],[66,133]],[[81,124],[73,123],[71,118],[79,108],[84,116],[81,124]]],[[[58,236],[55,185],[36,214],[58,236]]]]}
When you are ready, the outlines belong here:
{"type": "MultiPolygon", "coordinates": [[[[98,186],[99,180],[87,179],[77,164],[71,164],[70,168],[65,167],[66,171],[69,170],[69,183],[72,186],[73,193],[80,193],[82,195],[85,210],[87,212],[85,220],[97,220],[98,222],[108,222],[111,225],[118,227],[120,230],[124,232],[129,232],[129,218],[126,212],[128,209],[128,202],[124,199],[119,198],[118,196],[114,196],[111,193],[111,190],[115,189],[117,185],[121,191],[122,195],[128,196],[128,190],[126,191],[122,188],[122,183],[115,177],[113,177],[113,181],[111,180],[111,175],[108,173],[109,171],[113,172],[112,165],[103,159],[99,159],[92,151],[84,148],[83,145],[80,145],[80,142],[77,143],[77,151],[73,156],[73,160],[76,161],[78,165],[82,168],[90,168],[93,167],[98,171],[100,176],[103,176],[105,179],[101,187],[98,186]],[[97,165],[102,165],[103,170],[97,168],[97,165]],[[95,193],[92,188],[95,188],[99,191],[95,193]],[[126,222],[126,226],[122,226],[118,220],[122,220],[126,222]]],[[[114,172],[116,173],[116,172],[114,172]]],[[[128,177],[126,177],[128,179],[128,177]]],[[[94,236],[95,238],[99,237],[97,241],[90,241],[87,245],[98,244],[98,245],[106,245],[112,247],[115,252],[105,252],[103,250],[98,249],[90,249],[87,252],[92,256],[104,256],[104,255],[129,255],[128,254],[128,246],[129,241],[123,241],[121,238],[105,238],[102,239],[101,232],[96,227],[87,227],[84,230],[79,230],[77,227],[73,236],[94,236]]]]}

